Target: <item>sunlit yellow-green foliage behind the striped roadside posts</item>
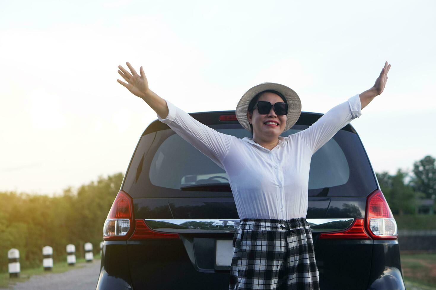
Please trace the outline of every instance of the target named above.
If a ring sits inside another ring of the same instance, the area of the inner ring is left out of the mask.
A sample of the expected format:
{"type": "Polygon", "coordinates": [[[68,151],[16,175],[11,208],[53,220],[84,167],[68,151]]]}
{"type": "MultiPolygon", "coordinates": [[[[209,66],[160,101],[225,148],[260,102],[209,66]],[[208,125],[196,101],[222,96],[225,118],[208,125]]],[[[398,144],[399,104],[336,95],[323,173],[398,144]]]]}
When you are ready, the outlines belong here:
{"type": "Polygon", "coordinates": [[[123,173],[71,187],[61,196],[0,192],[0,272],[7,272],[7,251],[20,251],[21,269],[42,264],[42,247],[53,247],[55,261],[66,260],[66,245],[76,246],[76,257],[85,255],[83,245],[91,242],[100,252],[103,223],[121,187],[123,173]]]}

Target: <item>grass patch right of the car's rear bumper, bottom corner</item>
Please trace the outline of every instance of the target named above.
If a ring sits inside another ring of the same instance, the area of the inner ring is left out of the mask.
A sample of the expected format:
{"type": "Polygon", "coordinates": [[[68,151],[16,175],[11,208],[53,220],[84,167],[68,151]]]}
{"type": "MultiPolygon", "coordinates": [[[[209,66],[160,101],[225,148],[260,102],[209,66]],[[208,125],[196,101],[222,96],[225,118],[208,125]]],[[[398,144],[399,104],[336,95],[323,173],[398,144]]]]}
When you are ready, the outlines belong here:
{"type": "Polygon", "coordinates": [[[400,256],[407,289],[436,289],[436,253],[400,252],[400,256]]]}

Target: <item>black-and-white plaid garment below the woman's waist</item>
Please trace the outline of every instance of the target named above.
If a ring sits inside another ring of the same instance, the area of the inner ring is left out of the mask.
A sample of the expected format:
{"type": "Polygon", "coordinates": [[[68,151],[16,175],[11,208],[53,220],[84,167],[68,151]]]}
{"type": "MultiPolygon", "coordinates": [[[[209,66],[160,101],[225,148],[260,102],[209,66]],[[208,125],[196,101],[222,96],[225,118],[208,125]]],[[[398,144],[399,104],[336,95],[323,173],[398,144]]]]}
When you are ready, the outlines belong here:
{"type": "Polygon", "coordinates": [[[241,219],[233,237],[228,289],[320,289],[306,218],[241,219]]]}

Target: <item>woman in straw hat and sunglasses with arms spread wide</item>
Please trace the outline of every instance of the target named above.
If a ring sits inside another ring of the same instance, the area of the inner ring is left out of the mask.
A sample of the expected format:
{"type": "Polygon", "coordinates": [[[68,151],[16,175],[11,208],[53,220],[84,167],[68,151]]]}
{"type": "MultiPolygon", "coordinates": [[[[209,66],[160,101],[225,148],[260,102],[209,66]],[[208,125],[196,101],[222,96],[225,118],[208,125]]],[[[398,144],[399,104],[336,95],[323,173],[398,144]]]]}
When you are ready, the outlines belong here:
{"type": "Polygon", "coordinates": [[[306,130],[281,137],[301,113],[298,95],[278,83],[249,89],[236,107],[252,138],[219,133],[150,90],[140,75],[119,66],[128,83],[158,119],[223,168],[229,177],[241,223],[233,238],[229,290],[319,289],[310,226],[306,221],[312,155],[361,109],[380,95],[391,65],[386,62],[373,87],[341,103],[306,130]]]}

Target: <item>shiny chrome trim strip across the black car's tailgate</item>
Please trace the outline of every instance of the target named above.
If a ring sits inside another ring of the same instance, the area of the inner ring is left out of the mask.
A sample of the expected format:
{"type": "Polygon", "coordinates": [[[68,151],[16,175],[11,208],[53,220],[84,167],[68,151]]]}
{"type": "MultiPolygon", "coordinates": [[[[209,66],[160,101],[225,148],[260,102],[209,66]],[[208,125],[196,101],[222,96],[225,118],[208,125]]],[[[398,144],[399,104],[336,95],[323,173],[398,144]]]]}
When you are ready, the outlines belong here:
{"type": "MultiPolygon", "coordinates": [[[[166,233],[235,233],[239,219],[144,219],[152,230],[166,233]]],[[[353,223],[354,218],[343,219],[307,219],[313,233],[345,230],[353,223]]]]}

